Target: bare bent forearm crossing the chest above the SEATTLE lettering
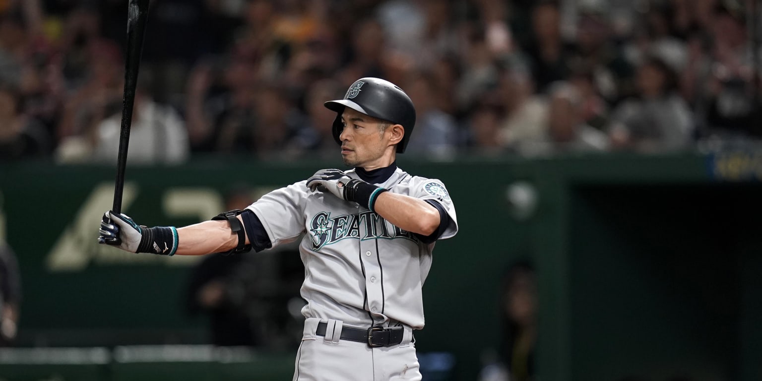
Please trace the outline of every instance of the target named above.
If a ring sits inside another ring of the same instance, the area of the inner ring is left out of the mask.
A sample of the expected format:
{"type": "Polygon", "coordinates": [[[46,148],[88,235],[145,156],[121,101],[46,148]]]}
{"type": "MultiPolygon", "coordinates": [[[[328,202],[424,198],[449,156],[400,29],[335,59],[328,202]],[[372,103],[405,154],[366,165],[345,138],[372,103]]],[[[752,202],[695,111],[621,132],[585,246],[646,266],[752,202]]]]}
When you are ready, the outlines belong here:
{"type": "Polygon", "coordinates": [[[421,235],[431,235],[440,223],[436,208],[424,200],[403,194],[379,194],[373,209],[392,225],[421,235]]]}

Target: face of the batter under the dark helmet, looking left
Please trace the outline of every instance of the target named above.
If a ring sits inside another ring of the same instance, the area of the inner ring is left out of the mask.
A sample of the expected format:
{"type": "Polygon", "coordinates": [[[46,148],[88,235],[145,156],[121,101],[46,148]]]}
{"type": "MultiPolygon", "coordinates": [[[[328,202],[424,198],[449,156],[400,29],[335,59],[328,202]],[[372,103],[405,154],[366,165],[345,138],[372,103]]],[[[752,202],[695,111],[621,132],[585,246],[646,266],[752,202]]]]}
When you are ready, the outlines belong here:
{"type": "Polygon", "coordinates": [[[389,138],[386,129],[381,130],[379,127],[381,120],[347,107],[341,114],[341,123],[344,124],[344,130],[339,138],[345,165],[380,168],[391,164],[382,163],[389,147],[389,138]]]}

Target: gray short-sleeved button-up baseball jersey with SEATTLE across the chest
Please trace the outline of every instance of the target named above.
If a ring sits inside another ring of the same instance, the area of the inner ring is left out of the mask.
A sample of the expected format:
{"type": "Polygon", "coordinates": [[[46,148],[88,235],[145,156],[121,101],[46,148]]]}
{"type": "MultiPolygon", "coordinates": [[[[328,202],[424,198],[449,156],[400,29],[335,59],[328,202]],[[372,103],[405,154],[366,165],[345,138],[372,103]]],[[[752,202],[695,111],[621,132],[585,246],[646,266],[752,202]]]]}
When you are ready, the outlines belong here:
{"type": "MultiPolygon", "coordinates": [[[[354,170],[347,175],[358,178],[354,170]]],[[[440,239],[458,231],[453,200],[441,181],[397,168],[376,185],[437,201],[450,216],[440,239]]],[[[434,243],[424,244],[357,203],[310,191],[306,181],[266,194],[247,209],[261,220],[273,247],[306,233],[299,245],[306,318],[338,319],[357,327],[424,327],[421,287],[431,268],[434,243]]]]}

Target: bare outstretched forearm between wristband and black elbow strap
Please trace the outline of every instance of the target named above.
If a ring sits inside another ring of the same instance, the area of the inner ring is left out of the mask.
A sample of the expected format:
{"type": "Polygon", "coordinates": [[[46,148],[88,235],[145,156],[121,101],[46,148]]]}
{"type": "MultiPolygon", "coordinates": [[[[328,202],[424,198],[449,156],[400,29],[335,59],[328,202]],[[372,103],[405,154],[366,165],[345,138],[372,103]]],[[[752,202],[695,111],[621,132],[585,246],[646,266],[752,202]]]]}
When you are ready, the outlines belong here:
{"type": "Polygon", "coordinates": [[[174,255],[205,255],[229,251],[238,245],[227,221],[204,221],[178,228],[178,251],[174,255]]]}

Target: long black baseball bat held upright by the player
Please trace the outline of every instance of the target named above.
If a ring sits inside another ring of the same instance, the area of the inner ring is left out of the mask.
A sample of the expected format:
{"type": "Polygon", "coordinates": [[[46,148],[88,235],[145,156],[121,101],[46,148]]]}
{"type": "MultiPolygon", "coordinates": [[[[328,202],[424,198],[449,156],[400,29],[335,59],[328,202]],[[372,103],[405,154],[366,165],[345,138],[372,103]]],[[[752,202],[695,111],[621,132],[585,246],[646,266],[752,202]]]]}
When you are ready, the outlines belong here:
{"type": "Polygon", "coordinates": [[[127,50],[124,70],[124,98],[122,100],[122,126],[119,134],[117,156],[117,184],[114,186],[114,213],[122,212],[124,170],[127,165],[127,148],[130,145],[130,127],[133,123],[135,88],[137,86],[143,34],[146,32],[149,0],[130,0],[127,7],[127,50]]]}

